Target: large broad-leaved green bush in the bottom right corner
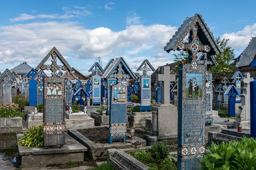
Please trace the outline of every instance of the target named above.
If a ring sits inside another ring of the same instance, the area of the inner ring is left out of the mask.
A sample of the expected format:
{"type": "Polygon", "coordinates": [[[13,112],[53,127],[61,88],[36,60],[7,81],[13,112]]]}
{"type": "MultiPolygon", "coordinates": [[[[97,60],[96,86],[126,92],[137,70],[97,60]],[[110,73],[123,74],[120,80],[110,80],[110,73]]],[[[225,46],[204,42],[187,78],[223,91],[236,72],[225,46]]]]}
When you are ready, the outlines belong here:
{"type": "Polygon", "coordinates": [[[212,143],[198,162],[202,170],[254,170],[256,167],[256,141],[243,137],[242,141],[212,143]]]}

